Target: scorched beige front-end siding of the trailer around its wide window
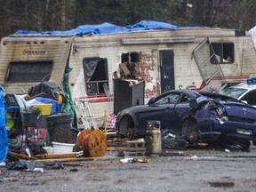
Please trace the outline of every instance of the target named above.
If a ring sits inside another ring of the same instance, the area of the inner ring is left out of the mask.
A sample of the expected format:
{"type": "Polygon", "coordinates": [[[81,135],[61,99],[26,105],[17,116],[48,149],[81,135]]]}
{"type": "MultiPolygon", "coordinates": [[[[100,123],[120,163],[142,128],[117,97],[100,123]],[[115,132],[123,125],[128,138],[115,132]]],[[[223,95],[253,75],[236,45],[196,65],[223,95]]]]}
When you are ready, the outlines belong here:
{"type": "Polygon", "coordinates": [[[61,87],[71,43],[71,37],[4,37],[0,51],[0,82],[5,92],[24,93],[20,86],[28,91],[33,85],[40,83],[7,83],[6,72],[10,63],[15,61],[51,60],[53,68],[49,81],[61,87]]]}

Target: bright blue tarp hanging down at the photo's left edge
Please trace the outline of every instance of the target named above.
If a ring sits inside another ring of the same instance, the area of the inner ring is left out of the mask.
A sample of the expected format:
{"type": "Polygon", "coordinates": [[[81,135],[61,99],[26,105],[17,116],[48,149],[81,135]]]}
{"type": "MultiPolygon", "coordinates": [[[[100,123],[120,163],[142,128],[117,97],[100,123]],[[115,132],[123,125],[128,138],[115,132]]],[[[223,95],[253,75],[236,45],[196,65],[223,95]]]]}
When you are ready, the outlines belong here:
{"type": "Polygon", "coordinates": [[[0,164],[4,162],[8,152],[8,135],[5,128],[4,92],[0,86],[0,164]]]}

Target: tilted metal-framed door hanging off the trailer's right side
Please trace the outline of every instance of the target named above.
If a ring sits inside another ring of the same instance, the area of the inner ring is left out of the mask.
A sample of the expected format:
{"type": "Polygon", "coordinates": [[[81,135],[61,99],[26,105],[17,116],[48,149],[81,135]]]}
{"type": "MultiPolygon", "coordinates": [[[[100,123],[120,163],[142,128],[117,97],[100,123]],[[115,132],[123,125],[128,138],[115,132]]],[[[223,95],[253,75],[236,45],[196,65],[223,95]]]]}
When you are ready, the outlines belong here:
{"type": "Polygon", "coordinates": [[[225,76],[220,68],[220,62],[211,60],[218,60],[209,38],[205,38],[203,42],[196,46],[192,52],[196,65],[204,81],[204,91],[219,92],[227,85],[225,76]]]}

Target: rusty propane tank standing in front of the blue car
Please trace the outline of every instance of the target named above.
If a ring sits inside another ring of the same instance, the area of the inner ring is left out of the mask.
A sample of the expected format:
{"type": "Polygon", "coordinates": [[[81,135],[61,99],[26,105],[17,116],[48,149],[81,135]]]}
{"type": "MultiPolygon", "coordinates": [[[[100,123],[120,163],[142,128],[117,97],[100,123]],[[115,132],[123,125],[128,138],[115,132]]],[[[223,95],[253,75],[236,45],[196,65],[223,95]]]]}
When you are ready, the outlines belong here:
{"type": "Polygon", "coordinates": [[[160,121],[147,122],[146,134],[147,155],[160,155],[162,151],[160,121]]]}

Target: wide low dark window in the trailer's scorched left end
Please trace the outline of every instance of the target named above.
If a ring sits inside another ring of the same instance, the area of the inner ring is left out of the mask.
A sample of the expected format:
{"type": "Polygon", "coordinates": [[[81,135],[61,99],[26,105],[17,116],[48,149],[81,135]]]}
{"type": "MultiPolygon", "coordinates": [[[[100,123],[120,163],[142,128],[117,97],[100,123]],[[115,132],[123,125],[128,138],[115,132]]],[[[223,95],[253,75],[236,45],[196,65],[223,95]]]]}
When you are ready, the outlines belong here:
{"type": "Polygon", "coordinates": [[[6,82],[49,81],[52,73],[52,61],[11,62],[5,77],[6,82]]]}

